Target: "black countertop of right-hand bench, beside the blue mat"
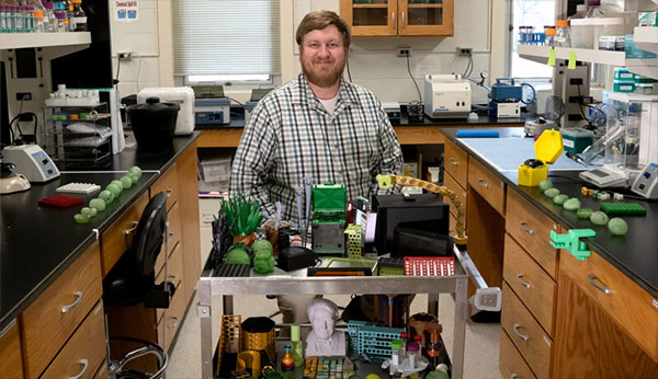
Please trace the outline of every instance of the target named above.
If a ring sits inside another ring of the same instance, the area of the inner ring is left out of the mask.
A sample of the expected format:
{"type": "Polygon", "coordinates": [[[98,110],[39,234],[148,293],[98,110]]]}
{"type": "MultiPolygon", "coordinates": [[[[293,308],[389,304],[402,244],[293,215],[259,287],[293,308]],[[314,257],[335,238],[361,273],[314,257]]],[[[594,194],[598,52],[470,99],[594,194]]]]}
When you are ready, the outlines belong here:
{"type": "MultiPolygon", "coordinates": [[[[490,128],[487,130],[490,130],[490,128]]],[[[496,130],[499,131],[501,138],[510,137],[513,133],[513,128],[496,128],[496,130]]],[[[456,129],[446,128],[441,131],[447,139],[455,142],[479,163],[496,173],[508,184],[509,188],[514,188],[524,198],[567,229],[594,230],[597,237],[587,239],[588,249],[593,250],[617,267],[651,294],[651,296],[658,297],[658,233],[656,233],[658,226],[658,203],[636,198],[621,200],[622,203],[639,203],[647,209],[647,215],[646,217],[623,216],[624,220],[628,223],[628,232],[626,236],[613,236],[605,226],[595,226],[589,220],[579,219],[575,211],[565,210],[560,206],[556,206],[548,197],[544,196],[538,187],[518,185],[515,173],[502,173],[491,166],[484,157],[480,157],[467,145],[457,139],[456,129]]],[[[519,164],[521,163],[519,162],[519,164]]],[[[600,209],[600,200],[581,195],[580,188],[582,186],[591,187],[591,185],[580,181],[578,172],[559,172],[559,174],[552,175],[551,169],[548,169],[548,177],[554,186],[559,188],[560,193],[569,197],[578,197],[583,207],[593,210],[600,209]]],[[[628,192],[621,193],[629,194],[628,192]]],[[[609,202],[615,200],[610,199],[609,202]]]]}

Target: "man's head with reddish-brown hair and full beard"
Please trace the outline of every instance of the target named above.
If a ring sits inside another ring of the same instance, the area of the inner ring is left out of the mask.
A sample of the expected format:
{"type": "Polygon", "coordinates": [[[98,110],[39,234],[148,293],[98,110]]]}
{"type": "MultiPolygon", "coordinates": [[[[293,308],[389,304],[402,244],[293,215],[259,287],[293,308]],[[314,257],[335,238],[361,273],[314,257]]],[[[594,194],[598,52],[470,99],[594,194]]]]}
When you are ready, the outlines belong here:
{"type": "Polygon", "coordinates": [[[306,79],[321,88],[334,85],[342,76],[350,48],[350,28],[331,11],[308,13],[297,27],[299,61],[306,79]]]}

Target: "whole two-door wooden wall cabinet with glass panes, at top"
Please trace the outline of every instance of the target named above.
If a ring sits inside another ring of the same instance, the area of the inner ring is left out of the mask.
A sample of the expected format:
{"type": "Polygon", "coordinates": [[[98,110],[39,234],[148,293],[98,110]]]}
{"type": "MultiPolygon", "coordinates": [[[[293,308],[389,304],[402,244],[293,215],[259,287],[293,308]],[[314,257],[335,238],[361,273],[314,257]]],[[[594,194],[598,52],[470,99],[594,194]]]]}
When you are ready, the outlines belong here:
{"type": "Polygon", "coordinates": [[[341,0],[353,37],[452,36],[453,0],[341,0]]]}

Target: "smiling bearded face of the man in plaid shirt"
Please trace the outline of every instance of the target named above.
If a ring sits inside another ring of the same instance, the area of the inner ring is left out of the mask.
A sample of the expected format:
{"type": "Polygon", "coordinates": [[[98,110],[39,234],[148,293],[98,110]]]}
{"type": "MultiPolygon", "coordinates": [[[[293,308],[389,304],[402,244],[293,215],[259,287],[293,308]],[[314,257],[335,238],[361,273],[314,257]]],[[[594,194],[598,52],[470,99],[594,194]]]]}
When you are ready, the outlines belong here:
{"type": "Polygon", "coordinates": [[[306,34],[299,45],[299,61],[306,79],[313,84],[321,88],[336,84],[347,61],[342,35],[336,25],[306,34]]]}

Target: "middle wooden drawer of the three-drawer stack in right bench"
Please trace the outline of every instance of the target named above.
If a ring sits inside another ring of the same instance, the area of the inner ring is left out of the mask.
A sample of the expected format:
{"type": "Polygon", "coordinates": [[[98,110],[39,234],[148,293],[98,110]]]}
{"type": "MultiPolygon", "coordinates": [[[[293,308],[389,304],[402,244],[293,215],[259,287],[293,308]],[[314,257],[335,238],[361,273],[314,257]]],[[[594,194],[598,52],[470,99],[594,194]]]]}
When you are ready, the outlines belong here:
{"type": "Polygon", "coordinates": [[[504,237],[502,277],[553,337],[557,285],[510,234],[504,237]]]}

